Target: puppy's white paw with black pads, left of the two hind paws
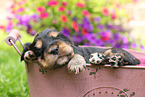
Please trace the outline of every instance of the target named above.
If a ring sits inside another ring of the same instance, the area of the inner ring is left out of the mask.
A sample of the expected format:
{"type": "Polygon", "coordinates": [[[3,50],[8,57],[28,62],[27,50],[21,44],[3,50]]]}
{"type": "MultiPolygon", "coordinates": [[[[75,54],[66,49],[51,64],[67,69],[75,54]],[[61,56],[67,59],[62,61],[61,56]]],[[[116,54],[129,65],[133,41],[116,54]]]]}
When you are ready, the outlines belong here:
{"type": "Polygon", "coordinates": [[[93,53],[90,55],[90,63],[95,65],[100,65],[103,63],[105,55],[103,53],[93,53]]]}

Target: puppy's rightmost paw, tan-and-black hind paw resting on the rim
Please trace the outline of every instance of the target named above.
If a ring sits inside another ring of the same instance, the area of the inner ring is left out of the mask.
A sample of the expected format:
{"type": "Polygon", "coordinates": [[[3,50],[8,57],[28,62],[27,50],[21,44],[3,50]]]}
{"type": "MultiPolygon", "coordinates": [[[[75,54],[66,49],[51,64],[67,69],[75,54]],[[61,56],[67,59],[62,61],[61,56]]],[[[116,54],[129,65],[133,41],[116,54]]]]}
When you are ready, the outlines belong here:
{"type": "Polygon", "coordinates": [[[114,53],[110,56],[109,63],[111,64],[112,68],[118,68],[124,65],[123,56],[121,53],[114,53]]]}

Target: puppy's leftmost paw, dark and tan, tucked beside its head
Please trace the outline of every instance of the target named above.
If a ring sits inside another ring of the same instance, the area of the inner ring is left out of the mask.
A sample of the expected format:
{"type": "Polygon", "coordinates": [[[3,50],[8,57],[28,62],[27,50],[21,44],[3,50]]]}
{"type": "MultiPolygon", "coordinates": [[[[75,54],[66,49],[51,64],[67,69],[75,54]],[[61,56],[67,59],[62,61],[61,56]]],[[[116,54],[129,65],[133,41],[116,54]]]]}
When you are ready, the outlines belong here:
{"type": "Polygon", "coordinates": [[[35,56],[34,52],[31,50],[28,50],[27,52],[25,52],[24,60],[26,62],[32,62],[32,61],[36,60],[36,56],[35,56]]]}

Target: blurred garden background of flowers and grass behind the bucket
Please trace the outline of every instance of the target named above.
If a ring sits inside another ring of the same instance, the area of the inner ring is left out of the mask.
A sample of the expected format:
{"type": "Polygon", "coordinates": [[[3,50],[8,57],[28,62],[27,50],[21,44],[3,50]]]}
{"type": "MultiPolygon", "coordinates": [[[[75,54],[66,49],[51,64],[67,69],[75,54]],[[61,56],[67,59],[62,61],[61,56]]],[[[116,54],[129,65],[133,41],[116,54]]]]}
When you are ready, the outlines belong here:
{"type": "Polygon", "coordinates": [[[53,28],[78,45],[144,52],[144,15],[145,0],[0,0],[0,96],[30,96],[24,62],[5,43],[12,29],[20,31],[23,43],[53,28]]]}

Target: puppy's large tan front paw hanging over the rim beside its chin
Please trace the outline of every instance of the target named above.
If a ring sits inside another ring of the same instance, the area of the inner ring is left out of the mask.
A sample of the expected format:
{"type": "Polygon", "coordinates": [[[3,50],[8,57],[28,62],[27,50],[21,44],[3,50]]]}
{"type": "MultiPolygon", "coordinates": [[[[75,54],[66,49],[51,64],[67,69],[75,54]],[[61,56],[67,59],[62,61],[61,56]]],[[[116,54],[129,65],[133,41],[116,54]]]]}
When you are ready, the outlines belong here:
{"type": "Polygon", "coordinates": [[[86,61],[81,55],[74,54],[72,59],[69,61],[67,67],[69,72],[74,72],[75,74],[78,74],[79,72],[86,69],[86,61]]]}

